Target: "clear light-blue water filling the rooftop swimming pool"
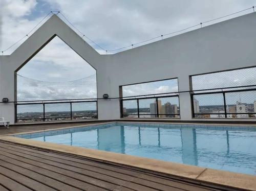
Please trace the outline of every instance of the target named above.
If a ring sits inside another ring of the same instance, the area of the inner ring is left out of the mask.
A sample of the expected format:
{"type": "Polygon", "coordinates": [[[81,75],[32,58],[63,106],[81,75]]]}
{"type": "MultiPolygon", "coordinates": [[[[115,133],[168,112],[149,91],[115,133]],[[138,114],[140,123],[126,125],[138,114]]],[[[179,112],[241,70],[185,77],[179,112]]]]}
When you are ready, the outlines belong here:
{"type": "Polygon", "coordinates": [[[112,123],[17,136],[256,175],[256,127],[112,123]]]}

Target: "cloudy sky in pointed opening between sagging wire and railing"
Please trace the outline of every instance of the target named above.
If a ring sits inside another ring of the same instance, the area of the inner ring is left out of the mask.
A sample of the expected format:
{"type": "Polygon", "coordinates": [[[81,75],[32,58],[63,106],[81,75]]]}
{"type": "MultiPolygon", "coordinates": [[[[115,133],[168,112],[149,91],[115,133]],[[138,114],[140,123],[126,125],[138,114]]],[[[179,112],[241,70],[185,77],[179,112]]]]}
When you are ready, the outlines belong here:
{"type": "Polygon", "coordinates": [[[42,82],[17,77],[17,100],[97,98],[96,75],[73,82],[42,82]]]}

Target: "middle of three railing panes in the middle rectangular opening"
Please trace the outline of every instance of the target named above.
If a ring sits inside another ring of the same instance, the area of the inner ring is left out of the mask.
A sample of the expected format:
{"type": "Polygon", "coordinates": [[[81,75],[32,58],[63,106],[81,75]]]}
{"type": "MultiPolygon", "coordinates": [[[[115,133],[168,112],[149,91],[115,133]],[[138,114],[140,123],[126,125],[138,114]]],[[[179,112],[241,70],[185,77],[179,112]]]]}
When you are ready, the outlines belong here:
{"type": "MultiPolygon", "coordinates": [[[[161,104],[158,105],[158,108],[161,107],[161,104]]],[[[139,100],[139,112],[140,118],[146,117],[157,117],[157,104],[156,99],[142,99],[139,100]]]]}

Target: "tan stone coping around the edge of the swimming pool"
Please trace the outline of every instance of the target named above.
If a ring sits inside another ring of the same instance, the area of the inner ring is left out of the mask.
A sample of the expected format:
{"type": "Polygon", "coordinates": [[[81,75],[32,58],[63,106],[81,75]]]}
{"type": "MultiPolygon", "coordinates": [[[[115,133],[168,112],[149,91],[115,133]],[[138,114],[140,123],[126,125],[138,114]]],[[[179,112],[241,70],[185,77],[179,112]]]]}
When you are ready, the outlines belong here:
{"type": "MultiPolygon", "coordinates": [[[[76,127],[90,127],[90,126],[97,126],[97,125],[111,124],[111,123],[115,123],[115,122],[71,126],[71,127],[56,128],[56,129],[50,129],[50,130],[32,131],[32,132],[26,132],[26,133],[15,133],[15,134],[9,134],[9,135],[2,135],[0,136],[0,139],[4,141],[14,142],[16,144],[32,146],[40,149],[47,149],[55,152],[56,151],[65,152],[69,154],[95,158],[102,161],[109,161],[109,162],[114,162],[118,164],[125,164],[129,166],[134,166],[136,168],[146,169],[150,171],[165,173],[168,175],[174,175],[174,176],[184,177],[184,178],[193,179],[193,180],[200,180],[200,181],[209,182],[209,183],[221,184],[221,185],[225,185],[233,188],[256,190],[256,176],[253,176],[253,175],[214,170],[214,169],[203,168],[203,167],[194,166],[194,165],[167,162],[162,160],[156,160],[156,159],[114,153],[114,152],[60,145],[60,144],[54,144],[50,142],[42,142],[42,141],[18,138],[13,136],[13,135],[20,135],[20,134],[30,134],[30,133],[37,133],[37,132],[76,128],[76,127]]],[[[125,123],[125,122],[122,122],[122,123],[125,123]]],[[[126,122],[126,123],[131,124],[131,122],[126,122]]],[[[135,122],[135,123],[138,123],[138,122],[135,122]]],[[[170,124],[170,123],[167,123],[167,124],[170,124]]],[[[224,125],[221,125],[221,126],[223,127],[224,125]]],[[[230,127],[230,125],[228,125],[228,127],[230,127]]]]}

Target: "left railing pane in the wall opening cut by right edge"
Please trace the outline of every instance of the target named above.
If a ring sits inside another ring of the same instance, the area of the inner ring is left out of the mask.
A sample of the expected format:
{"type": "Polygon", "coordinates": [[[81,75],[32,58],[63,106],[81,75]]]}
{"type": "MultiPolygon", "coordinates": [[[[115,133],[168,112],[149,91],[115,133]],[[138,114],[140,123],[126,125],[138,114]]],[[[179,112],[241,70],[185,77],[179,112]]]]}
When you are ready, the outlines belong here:
{"type": "Polygon", "coordinates": [[[194,95],[193,105],[194,105],[195,117],[203,117],[203,118],[225,117],[224,99],[223,99],[222,93],[194,95]]]}

